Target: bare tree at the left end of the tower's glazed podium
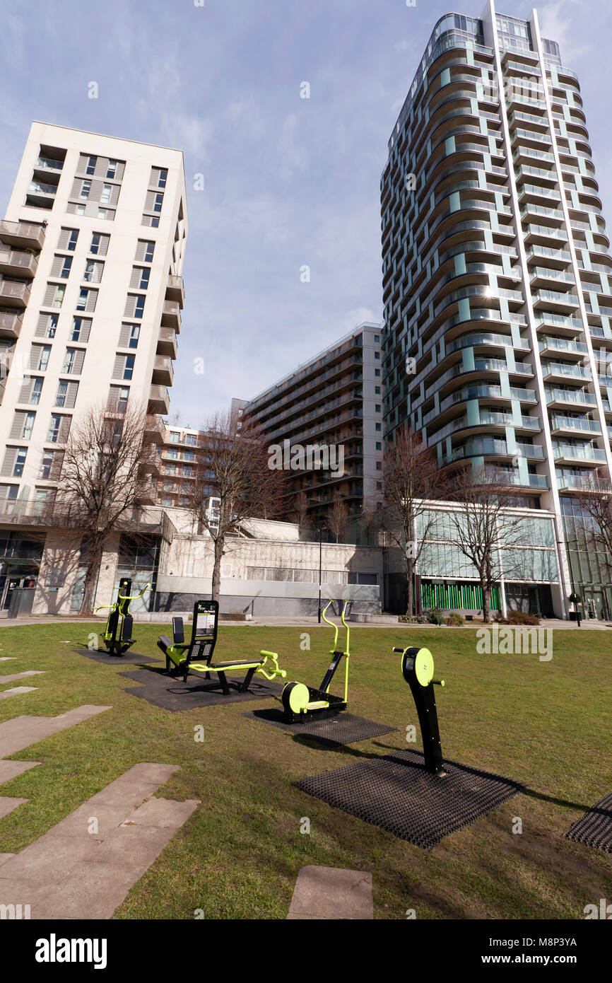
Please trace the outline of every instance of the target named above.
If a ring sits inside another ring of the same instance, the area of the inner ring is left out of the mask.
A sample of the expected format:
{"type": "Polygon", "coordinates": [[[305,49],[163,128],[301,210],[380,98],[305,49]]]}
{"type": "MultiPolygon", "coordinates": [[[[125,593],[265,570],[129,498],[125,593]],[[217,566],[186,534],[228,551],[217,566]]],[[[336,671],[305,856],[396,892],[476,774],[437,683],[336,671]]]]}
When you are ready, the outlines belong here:
{"type": "Polygon", "coordinates": [[[404,556],[406,613],[412,615],[415,568],[434,522],[429,502],[444,495],[446,480],[432,452],[406,424],[385,448],[382,474],[385,508],[374,515],[404,556]]]}

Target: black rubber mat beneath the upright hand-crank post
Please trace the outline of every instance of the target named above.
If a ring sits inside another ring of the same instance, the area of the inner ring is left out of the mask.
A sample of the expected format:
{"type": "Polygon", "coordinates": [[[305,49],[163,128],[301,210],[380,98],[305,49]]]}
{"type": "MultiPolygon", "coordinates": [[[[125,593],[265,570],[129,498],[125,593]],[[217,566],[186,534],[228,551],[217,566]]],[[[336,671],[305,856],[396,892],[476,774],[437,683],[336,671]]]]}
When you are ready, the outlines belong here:
{"type": "Polygon", "coordinates": [[[455,761],[445,761],[448,774],[438,778],[424,770],[423,760],[420,751],[394,751],[296,785],[423,849],[469,826],[525,787],[455,761]]]}

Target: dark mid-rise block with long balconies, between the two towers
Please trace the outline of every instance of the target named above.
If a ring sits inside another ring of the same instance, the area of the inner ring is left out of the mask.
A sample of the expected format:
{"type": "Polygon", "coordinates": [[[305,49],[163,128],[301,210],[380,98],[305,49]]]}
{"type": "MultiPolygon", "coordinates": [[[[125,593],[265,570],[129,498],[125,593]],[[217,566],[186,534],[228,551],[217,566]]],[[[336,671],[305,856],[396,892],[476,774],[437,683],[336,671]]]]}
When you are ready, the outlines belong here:
{"type": "Polygon", "coordinates": [[[310,527],[325,526],[337,502],[345,503],[349,519],[364,505],[382,504],[380,342],[381,325],[362,323],[242,404],[270,447],[278,448],[293,507],[304,502],[310,527]]]}

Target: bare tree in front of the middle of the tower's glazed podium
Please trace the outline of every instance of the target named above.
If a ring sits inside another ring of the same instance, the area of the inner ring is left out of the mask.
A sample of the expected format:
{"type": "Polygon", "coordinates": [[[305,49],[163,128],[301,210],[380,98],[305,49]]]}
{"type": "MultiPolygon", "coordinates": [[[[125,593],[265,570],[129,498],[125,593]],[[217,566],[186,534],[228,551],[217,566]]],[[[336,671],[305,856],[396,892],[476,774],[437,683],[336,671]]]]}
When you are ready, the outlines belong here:
{"type": "Polygon", "coordinates": [[[502,573],[511,572],[508,563],[503,563],[503,550],[521,545],[523,516],[508,511],[517,505],[517,490],[508,484],[502,470],[485,465],[457,471],[451,487],[456,502],[455,510],[448,513],[453,542],[475,567],[482,591],[482,619],[488,622],[493,587],[502,573]]]}

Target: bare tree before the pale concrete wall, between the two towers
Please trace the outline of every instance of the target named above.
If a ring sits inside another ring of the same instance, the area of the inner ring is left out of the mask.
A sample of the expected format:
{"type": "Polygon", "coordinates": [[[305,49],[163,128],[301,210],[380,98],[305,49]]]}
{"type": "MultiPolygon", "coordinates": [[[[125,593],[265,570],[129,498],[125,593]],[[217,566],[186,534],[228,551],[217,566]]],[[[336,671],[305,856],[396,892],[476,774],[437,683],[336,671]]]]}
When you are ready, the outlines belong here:
{"type": "Polygon", "coordinates": [[[278,518],[286,509],[286,475],[268,463],[267,442],[249,418],[217,412],[208,420],[188,508],[198,535],[205,530],[212,540],[213,601],[219,600],[228,538],[240,534],[246,520],[278,518]],[[206,506],[209,489],[219,500],[214,514],[206,506]]]}

